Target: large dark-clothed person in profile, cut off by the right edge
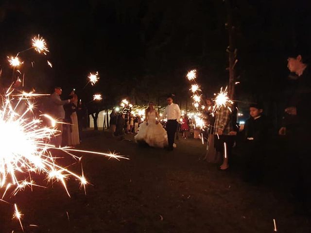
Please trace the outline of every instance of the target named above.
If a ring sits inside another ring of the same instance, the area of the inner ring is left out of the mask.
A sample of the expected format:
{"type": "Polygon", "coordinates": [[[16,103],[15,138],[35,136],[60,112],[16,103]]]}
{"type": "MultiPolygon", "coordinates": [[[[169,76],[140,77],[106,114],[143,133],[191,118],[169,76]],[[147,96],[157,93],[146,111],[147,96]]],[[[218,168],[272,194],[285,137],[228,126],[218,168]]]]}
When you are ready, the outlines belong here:
{"type": "MultiPolygon", "coordinates": [[[[301,204],[306,214],[311,214],[311,178],[310,178],[310,128],[311,128],[311,68],[308,65],[310,54],[306,48],[295,50],[288,57],[289,70],[294,73],[293,95],[284,110],[282,127],[279,134],[286,136],[290,142],[291,174],[294,176],[293,195],[301,204]],[[294,171],[293,171],[294,168],[294,171]]],[[[286,145],[285,145],[286,147],[286,145]]]]}

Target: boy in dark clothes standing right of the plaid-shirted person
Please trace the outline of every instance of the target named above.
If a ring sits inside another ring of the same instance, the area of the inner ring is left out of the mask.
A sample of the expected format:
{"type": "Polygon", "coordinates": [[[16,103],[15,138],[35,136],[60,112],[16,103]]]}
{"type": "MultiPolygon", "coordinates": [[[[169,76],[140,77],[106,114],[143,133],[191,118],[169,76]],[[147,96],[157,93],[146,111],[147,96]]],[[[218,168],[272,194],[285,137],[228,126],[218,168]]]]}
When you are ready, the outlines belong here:
{"type": "Polygon", "coordinates": [[[259,104],[249,107],[250,118],[244,126],[244,180],[259,183],[263,177],[268,123],[259,104]]]}

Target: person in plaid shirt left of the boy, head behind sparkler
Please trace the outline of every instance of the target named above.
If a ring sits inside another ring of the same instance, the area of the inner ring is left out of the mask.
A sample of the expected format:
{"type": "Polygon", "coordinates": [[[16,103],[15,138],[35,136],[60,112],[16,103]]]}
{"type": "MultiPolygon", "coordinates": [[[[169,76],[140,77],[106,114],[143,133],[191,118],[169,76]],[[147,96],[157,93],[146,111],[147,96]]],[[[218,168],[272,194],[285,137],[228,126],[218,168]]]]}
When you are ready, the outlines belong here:
{"type": "Polygon", "coordinates": [[[229,167],[228,158],[232,154],[235,135],[237,132],[234,127],[234,113],[232,113],[233,105],[221,107],[216,113],[214,134],[215,134],[215,148],[219,154],[224,157],[224,162],[220,166],[221,170],[226,170],[229,167]]]}

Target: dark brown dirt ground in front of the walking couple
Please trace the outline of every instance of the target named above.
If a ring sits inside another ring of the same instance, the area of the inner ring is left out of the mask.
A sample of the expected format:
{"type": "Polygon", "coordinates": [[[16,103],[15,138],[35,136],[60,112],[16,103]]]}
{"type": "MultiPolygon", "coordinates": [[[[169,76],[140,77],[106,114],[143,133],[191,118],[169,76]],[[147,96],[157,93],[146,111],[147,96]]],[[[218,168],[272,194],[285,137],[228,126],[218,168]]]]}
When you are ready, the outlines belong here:
{"type": "MultiPolygon", "coordinates": [[[[81,148],[116,150],[131,160],[85,155],[83,168],[92,183],[87,195],[73,180],[71,198],[58,183],[19,193],[10,201],[19,203],[25,232],[272,233],[274,218],[280,233],[310,232],[310,220],[295,216],[282,193],[250,186],[236,171],[221,172],[198,161],[205,153],[200,140],[180,139],[172,152],[88,134],[81,148]]],[[[81,166],[71,169],[80,172],[81,166]]],[[[12,206],[0,204],[0,232],[21,232],[12,206]]]]}

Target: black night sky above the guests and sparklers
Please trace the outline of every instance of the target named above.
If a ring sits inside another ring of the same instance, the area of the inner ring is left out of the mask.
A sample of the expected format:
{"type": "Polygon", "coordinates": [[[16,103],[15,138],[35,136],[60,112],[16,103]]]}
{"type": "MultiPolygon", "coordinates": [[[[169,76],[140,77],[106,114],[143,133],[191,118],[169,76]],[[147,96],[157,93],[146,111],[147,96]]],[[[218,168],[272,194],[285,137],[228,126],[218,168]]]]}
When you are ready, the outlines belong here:
{"type": "MultiPolygon", "coordinates": [[[[310,4],[231,3],[241,82],[237,98],[271,100],[286,83],[288,52],[297,46],[310,48],[310,4]]],[[[2,83],[12,75],[6,56],[30,47],[38,33],[50,53],[20,55],[26,87],[38,91],[61,85],[65,92],[80,90],[81,96],[101,91],[110,102],[128,96],[145,103],[168,93],[183,101],[190,95],[185,75],[192,68],[198,70],[197,81],[207,96],[228,80],[222,0],[6,0],[0,7],[2,83]],[[81,92],[91,71],[98,71],[101,81],[81,92]]]]}

